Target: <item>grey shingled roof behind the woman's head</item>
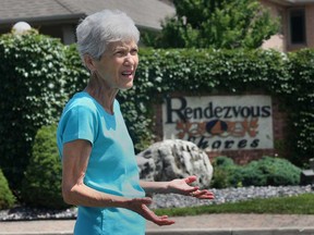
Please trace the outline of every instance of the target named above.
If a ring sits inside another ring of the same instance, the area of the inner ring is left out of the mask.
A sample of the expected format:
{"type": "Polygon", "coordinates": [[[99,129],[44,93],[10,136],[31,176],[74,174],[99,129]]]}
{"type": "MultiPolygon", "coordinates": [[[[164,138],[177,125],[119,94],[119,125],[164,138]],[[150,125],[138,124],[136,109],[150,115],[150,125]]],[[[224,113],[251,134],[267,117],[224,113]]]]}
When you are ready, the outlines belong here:
{"type": "Polygon", "coordinates": [[[102,9],[119,9],[133,18],[141,32],[160,30],[161,21],[176,13],[168,1],[159,0],[0,0],[0,34],[17,22],[27,22],[40,34],[75,42],[81,18],[102,9]]]}

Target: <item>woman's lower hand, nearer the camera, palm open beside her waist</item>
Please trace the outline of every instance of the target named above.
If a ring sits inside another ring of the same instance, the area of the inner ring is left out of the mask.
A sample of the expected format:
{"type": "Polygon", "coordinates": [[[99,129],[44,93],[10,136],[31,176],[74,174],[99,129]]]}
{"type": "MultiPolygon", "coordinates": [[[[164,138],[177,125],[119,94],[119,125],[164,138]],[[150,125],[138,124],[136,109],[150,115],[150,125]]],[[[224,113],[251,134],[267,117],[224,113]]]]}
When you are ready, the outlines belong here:
{"type": "Polygon", "coordinates": [[[155,214],[154,211],[152,211],[147,207],[152,202],[153,202],[152,198],[148,198],[148,197],[133,198],[128,201],[126,209],[141,214],[146,220],[152,221],[153,223],[159,226],[171,225],[174,223],[174,221],[168,219],[168,215],[158,217],[157,214],[155,214]]]}

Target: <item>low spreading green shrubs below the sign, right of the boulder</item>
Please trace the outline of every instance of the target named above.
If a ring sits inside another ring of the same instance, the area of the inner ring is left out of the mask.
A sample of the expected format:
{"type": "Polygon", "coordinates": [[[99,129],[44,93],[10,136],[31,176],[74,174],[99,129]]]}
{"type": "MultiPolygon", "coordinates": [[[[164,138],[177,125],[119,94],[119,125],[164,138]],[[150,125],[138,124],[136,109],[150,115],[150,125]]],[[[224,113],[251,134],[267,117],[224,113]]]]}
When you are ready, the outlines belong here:
{"type": "Polygon", "coordinates": [[[216,188],[300,184],[301,169],[287,159],[263,157],[246,165],[237,165],[228,157],[217,157],[213,166],[212,187],[216,188]]]}

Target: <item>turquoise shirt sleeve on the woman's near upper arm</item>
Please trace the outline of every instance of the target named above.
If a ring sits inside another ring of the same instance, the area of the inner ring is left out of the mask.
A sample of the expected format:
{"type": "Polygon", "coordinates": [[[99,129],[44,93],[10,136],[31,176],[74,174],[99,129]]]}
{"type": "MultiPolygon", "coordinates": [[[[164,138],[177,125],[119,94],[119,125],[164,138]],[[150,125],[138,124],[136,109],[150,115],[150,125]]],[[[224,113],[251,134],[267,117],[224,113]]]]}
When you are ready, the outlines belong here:
{"type": "Polygon", "coordinates": [[[88,107],[73,107],[63,116],[62,144],[86,139],[93,145],[96,136],[97,120],[88,107]]]}

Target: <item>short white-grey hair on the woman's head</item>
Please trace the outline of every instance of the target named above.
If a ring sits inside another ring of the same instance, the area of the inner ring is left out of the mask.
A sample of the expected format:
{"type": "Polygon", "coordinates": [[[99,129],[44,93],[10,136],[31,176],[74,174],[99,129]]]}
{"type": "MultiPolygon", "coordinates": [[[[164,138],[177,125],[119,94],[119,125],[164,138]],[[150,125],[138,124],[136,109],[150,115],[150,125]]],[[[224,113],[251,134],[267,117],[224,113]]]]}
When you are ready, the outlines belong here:
{"type": "MultiPolygon", "coordinates": [[[[133,20],[119,10],[104,10],[85,17],[76,28],[77,50],[100,60],[109,42],[140,40],[133,20]]],[[[84,61],[84,60],[83,60],[84,61]]]]}

